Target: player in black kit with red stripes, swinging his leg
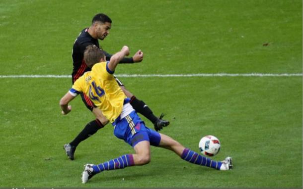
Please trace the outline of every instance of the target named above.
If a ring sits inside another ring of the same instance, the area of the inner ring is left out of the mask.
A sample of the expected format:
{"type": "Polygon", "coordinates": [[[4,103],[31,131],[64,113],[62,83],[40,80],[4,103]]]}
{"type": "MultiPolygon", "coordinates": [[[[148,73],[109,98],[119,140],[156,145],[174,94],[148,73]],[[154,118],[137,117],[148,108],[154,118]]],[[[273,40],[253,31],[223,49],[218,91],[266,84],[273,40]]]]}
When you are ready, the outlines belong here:
{"type": "MultiPolygon", "coordinates": [[[[73,73],[72,73],[72,82],[74,82],[83,75],[84,72],[90,71],[83,60],[84,50],[89,45],[95,45],[100,48],[99,40],[104,40],[106,36],[109,34],[109,30],[111,29],[111,19],[105,14],[96,14],[92,19],[92,24],[89,28],[85,28],[81,31],[79,36],[77,37],[74,47],[73,47],[73,73]]],[[[112,54],[107,53],[106,51],[106,60],[110,60],[112,54]]],[[[143,60],[143,52],[138,50],[133,57],[125,57],[123,58],[120,63],[134,63],[134,62],[141,62],[143,60]]],[[[154,129],[156,131],[161,130],[163,127],[169,125],[168,121],[162,120],[163,114],[157,118],[153,115],[149,106],[145,104],[144,101],[139,100],[136,98],[132,93],[127,91],[121,81],[116,78],[117,83],[121,87],[122,91],[126,94],[127,97],[131,98],[130,104],[134,107],[134,109],[148,118],[154,125],[154,129]]],[[[74,160],[74,153],[76,150],[76,146],[90,137],[91,135],[95,134],[99,129],[103,128],[107,123],[108,120],[102,115],[102,112],[95,108],[93,102],[87,97],[85,94],[80,94],[82,101],[86,105],[86,107],[94,113],[96,119],[89,122],[84,129],[76,136],[76,138],[64,145],[64,149],[66,154],[71,160],[74,160]]]]}

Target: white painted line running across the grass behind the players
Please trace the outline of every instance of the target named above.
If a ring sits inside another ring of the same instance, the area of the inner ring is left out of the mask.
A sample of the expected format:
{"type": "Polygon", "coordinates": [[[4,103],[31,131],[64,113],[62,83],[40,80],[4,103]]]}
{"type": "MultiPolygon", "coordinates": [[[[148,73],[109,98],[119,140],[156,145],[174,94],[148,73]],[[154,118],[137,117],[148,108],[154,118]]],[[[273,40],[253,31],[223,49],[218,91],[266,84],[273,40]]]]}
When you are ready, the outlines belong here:
{"type": "MultiPolygon", "coordinates": [[[[119,78],[150,78],[150,77],[302,77],[302,73],[248,73],[248,74],[228,74],[228,73],[200,73],[200,74],[117,74],[119,78]]],[[[71,75],[0,75],[0,78],[71,78],[71,75]]]]}

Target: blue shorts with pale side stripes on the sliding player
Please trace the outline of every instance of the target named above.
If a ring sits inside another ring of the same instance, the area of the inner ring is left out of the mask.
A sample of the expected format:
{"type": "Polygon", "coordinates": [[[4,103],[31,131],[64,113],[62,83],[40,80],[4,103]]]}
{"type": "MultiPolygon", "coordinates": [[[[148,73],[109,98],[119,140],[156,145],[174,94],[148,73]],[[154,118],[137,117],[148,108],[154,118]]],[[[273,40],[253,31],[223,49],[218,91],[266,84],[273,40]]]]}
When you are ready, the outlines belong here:
{"type": "Polygon", "coordinates": [[[115,124],[114,135],[133,147],[141,141],[149,141],[153,146],[158,146],[160,143],[160,134],[146,127],[135,111],[113,124],[115,124]]]}

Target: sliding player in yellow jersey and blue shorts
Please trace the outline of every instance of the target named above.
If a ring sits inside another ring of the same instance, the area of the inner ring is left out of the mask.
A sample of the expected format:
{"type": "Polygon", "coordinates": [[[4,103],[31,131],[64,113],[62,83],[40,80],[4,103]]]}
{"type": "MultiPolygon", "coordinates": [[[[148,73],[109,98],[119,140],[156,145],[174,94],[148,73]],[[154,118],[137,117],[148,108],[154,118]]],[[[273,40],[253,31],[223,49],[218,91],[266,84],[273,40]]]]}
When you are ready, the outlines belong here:
{"type": "Polygon", "coordinates": [[[145,126],[145,123],[129,103],[129,98],[122,92],[112,75],[118,62],[128,54],[129,48],[124,46],[111,57],[110,61],[106,62],[101,49],[96,46],[86,47],[84,60],[87,66],[91,67],[91,71],[76,80],[72,89],[60,100],[62,113],[68,114],[72,110],[68,103],[77,94],[85,93],[112,123],[114,135],[129,143],[135,150],[134,154],[125,154],[99,165],[86,164],[82,173],[82,183],[86,183],[92,176],[103,171],[149,163],[151,161],[151,145],[169,149],[190,163],[217,170],[231,169],[231,157],[227,157],[221,162],[213,161],[145,126]]]}

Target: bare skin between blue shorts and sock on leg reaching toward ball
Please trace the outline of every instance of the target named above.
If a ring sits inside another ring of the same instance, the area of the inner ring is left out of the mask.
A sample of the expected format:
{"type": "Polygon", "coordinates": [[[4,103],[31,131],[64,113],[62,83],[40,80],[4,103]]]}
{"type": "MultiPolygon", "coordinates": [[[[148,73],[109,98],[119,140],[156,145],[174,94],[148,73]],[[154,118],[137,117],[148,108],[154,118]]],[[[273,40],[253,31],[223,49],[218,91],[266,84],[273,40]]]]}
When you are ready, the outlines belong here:
{"type": "Polygon", "coordinates": [[[161,140],[159,143],[159,147],[163,147],[169,150],[174,151],[176,154],[178,154],[179,156],[181,156],[183,150],[185,149],[185,147],[180,144],[179,142],[175,141],[174,139],[172,139],[171,137],[161,134],[159,133],[161,136],[161,140]]]}

